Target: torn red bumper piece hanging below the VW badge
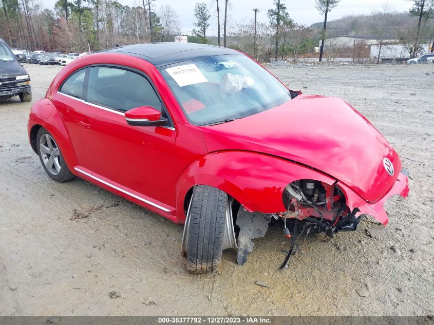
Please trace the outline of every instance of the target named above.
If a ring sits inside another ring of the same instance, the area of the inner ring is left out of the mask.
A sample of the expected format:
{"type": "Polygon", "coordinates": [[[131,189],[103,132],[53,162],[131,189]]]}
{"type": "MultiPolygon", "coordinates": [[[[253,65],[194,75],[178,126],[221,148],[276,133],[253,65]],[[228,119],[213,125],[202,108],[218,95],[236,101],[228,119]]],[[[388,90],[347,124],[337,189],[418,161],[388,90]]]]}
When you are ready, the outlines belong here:
{"type": "Polygon", "coordinates": [[[406,198],[408,196],[408,193],[410,192],[410,188],[408,187],[408,171],[406,169],[403,169],[401,171],[397,180],[394,182],[393,186],[389,189],[386,195],[375,203],[369,203],[365,201],[342,182],[338,182],[337,186],[339,186],[343,190],[347,200],[347,205],[351,209],[351,211],[354,208],[358,208],[360,210],[360,212],[356,213],[356,217],[360,217],[361,215],[365,214],[370,215],[375,220],[380,221],[383,225],[387,225],[387,223],[389,222],[389,217],[387,216],[387,213],[383,208],[383,205],[387,201],[387,199],[395,194],[406,198]]]}

